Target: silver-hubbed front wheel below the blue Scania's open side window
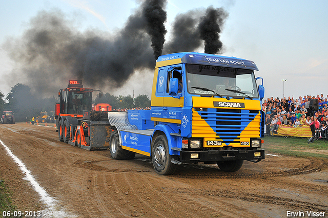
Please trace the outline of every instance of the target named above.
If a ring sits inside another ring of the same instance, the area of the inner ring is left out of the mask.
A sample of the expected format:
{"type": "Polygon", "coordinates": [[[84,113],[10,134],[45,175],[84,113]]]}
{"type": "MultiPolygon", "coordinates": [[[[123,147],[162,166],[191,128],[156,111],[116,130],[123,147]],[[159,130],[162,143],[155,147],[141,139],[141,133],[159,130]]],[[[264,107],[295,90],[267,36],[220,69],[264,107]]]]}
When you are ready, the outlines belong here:
{"type": "Polygon", "coordinates": [[[169,153],[168,140],[164,135],[156,137],[152,146],[152,162],[155,171],[160,175],[171,175],[176,165],[171,163],[172,155],[169,153]]]}

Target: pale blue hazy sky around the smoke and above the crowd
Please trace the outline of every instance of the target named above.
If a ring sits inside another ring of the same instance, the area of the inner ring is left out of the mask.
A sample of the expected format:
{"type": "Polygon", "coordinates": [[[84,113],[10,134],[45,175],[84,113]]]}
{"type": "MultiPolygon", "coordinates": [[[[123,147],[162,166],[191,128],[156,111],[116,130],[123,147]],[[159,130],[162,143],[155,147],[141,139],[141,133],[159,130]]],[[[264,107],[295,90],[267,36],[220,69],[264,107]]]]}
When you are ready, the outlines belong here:
{"type": "MultiPolygon", "coordinates": [[[[83,32],[96,29],[104,34],[119,31],[141,0],[1,0],[0,7],[0,91],[5,95],[24,77],[10,74],[17,63],[10,59],[6,42],[21,38],[39,11],[59,9],[83,32]]],[[[169,0],[166,41],[170,26],[179,13],[209,6],[223,7],[229,16],[222,27],[222,55],[252,60],[263,77],[265,97],[328,94],[328,1],[210,1],[169,0]]],[[[197,50],[203,52],[203,48],[197,50]]],[[[135,54],[138,55],[138,54],[135,54]]],[[[155,61],[154,61],[155,63],[155,61]]],[[[115,95],[151,94],[153,72],[136,73],[115,95]]],[[[67,82],[65,82],[66,84],[67,82]]],[[[29,84],[26,84],[29,85],[29,84]]],[[[64,87],[63,87],[64,88],[64,87]]],[[[56,95],[54,93],[54,95],[56,95]]]]}

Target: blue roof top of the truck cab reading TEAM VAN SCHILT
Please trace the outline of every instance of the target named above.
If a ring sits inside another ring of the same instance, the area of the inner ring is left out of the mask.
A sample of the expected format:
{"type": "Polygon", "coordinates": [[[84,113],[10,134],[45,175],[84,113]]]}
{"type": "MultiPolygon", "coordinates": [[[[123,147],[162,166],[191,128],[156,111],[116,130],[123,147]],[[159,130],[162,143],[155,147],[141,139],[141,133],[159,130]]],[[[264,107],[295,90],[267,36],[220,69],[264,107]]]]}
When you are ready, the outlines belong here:
{"type": "Polygon", "coordinates": [[[258,68],[253,61],[244,60],[237,57],[227,57],[214,54],[203,53],[175,53],[169,55],[162,55],[158,57],[157,62],[170,61],[179,58],[181,63],[186,64],[201,64],[201,65],[214,65],[232,68],[245,68],[250,70],[257,70],[258,68]]]}

